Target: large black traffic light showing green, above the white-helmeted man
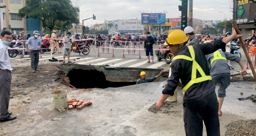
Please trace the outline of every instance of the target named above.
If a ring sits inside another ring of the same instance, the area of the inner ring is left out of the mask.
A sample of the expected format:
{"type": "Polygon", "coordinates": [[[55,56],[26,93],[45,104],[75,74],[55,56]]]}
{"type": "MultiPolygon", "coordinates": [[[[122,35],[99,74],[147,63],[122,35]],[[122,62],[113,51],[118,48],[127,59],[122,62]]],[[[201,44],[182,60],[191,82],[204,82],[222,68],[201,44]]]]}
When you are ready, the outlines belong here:
{"type": "Polygon", "coordinates": [[[184,28],[188,25],[188,0],[181,1],[181,27],[180,30],[184,30],[184,28]]]}

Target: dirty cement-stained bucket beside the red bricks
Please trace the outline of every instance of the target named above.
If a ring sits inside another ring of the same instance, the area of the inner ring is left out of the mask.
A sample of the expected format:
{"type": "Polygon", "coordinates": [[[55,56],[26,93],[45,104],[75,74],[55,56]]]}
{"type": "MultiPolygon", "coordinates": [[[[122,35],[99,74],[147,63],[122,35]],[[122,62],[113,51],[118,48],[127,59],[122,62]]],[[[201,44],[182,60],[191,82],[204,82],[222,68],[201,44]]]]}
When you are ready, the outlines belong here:
{"type": "Polygon", "coordinates": [[[59,94],[56,94],[55,91],[52,92],[54,108],[56,110],[68,107],[67,94],[66,90],[60,90],[59,94]]]}

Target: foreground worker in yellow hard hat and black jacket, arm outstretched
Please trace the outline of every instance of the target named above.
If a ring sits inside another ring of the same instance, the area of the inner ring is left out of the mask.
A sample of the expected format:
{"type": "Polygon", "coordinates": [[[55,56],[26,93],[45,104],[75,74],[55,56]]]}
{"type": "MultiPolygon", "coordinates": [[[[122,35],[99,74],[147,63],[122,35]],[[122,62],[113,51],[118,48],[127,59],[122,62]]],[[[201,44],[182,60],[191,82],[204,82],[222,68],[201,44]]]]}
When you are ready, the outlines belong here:
{"type": "Polygon", "coordinates": [[[218,100],[215,86],[210,76],[205,55],[218,49],[226,51],[226,44],[242,34],[234,30],[231,36],[212,42],[185,46],[188,37],[182,30],[172,30],[164,45],[170,46],[174,54],[171,64],[171,76],[162,90],[162,96],[156,103],[156,109],[161,110],[164,101],[171,95],[181,81],[184,110],[184,128],[186,136],[202,136],[203,121],[208,136],[220,136],[220,122],[218,118],[218,100]]]}

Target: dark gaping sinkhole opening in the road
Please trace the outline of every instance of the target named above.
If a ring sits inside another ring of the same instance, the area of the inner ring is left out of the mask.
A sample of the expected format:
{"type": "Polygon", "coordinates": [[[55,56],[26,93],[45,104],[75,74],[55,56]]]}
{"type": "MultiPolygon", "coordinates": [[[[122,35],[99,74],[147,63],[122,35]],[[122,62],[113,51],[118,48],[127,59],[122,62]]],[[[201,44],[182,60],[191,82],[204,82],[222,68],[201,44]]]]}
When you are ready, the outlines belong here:
{"type": "Polygon", "coordinates": [[[136,82],[110,82],[103,72],[98,70],[70,70],[67,74],[70,84],[76,88],[108,88],[122,87],[136,84],[136,82]]]}

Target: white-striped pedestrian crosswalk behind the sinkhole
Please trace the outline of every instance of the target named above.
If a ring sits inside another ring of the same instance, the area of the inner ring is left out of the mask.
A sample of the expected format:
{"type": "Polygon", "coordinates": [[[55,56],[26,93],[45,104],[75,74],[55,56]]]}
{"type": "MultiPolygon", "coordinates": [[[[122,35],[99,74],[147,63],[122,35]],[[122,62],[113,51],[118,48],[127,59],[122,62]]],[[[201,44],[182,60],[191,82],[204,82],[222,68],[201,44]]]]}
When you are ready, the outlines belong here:
{"type": "MultiPolygon", "coordinates": [[[[48,62],[49,59],[52,57],[48,54],[42,54],[42,58],[39,58],[39,62],[48,62]]],[[[58,60],[63,60],[63,56],[54,56],[54,58],[58,60]]],[[[137,57],[136,57],[137,58],[137,57]]],[[[154,64],[152,62],[148,63],[147,58],[140,58],[140,59],[134,59],[132,57],[126,57],[126,58],[107,58],[107,57],[97,57],[97,56],[70,56],[70,60],[72,63],[75,64],[81,64],[81,65],[106,65],[110,67],[128,67],[128,68],[166,68],[169,66],[165,62],[165,60],[158,61],[154,59],[154,64]]],[[[25,56],[24,58],[20,59],[20,57],[16,58],[10,58],[10,61],[17,61],[22,60],[26,62],[30,62],[30,58],[28,56],[25,56]]],[[[66,57],[67,60],[67,57],[66,57]]],[[[49,63],[58,63],[58,62],[49,62],[49,63]]]]}

